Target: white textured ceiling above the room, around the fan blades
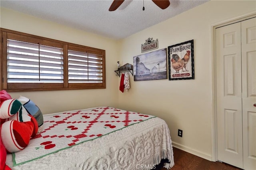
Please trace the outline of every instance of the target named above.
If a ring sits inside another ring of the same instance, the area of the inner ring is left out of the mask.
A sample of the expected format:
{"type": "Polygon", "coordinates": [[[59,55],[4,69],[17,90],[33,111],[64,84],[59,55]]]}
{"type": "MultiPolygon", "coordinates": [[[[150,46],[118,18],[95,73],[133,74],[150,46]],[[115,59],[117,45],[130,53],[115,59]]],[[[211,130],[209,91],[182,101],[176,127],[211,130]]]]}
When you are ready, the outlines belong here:
{"type": "Polygon", "coordinates": [[[125,0],[109,12],[112,0],[0,0],[0,6],[54,21],[113,39],[122,39],[160,23],[205,0],[170,0],[170,6],[160,9],[151,0],[125,0]]]}

